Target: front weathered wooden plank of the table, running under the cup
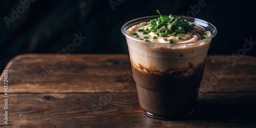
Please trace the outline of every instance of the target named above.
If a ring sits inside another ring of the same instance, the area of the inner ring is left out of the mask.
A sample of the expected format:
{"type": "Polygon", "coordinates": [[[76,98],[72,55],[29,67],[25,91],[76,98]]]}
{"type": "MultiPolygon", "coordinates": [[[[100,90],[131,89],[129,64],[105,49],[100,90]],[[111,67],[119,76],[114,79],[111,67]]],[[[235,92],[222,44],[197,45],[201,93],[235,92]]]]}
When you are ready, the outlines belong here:
{"type": "Polygon", "coordinates": [[[112,97],[109,95],[9,94],[8,124],[12,127],[256,126],[256,93],[201,94],[193,114],[180,121],[161,121],[145,116],[137,93],[118,92],[112,97]],[[96,106],[99,106],[98,110],[96,106]]]}

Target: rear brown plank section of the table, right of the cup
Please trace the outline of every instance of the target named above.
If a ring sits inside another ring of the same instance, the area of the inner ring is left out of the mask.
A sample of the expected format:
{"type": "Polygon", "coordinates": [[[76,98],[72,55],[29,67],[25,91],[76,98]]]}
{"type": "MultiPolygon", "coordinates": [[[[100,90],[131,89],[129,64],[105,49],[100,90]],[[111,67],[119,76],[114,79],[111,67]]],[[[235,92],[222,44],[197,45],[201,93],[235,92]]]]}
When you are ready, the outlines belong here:
{"type": "Polygon", "coordinates": [[[255,57],[207,57],[200,92],[251,91],[256,91],[255,57]]]}

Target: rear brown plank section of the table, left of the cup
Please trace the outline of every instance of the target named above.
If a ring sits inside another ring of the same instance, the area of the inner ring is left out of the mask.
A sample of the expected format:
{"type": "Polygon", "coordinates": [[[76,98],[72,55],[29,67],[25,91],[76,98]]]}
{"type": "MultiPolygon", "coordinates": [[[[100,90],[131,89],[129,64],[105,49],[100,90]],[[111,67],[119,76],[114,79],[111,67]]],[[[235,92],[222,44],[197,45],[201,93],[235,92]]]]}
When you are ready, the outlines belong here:
{"type": "Polygon", "coordinates": [[[122,92],[136,92],[129,56],[66,57],[62,61],[63,58],[53,54],[25,54],[12,59],[6,68],[9,73],[9,92],[108,92],[119,84],[124,86],[120,90],[122,92]],[[55,62],[53,66],[52,62],[55,62]]]}

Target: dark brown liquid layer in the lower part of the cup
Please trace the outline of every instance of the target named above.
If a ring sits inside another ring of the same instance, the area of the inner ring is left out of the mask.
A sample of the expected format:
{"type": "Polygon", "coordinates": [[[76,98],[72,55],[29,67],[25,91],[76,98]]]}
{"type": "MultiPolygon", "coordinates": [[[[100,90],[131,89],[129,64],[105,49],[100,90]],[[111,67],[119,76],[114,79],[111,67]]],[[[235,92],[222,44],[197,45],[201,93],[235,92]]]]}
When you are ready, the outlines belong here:
{"type": "Polygon", "coordinates": [[[163,116],[182,116],[193,110],[203,77],[205,60],[197,66],[188,63],[185,69],[152,71],[132,63],[141,107],[163,116]]]}

